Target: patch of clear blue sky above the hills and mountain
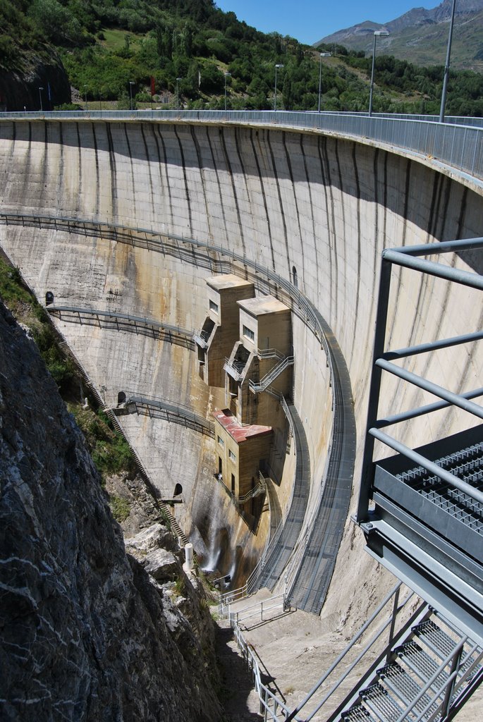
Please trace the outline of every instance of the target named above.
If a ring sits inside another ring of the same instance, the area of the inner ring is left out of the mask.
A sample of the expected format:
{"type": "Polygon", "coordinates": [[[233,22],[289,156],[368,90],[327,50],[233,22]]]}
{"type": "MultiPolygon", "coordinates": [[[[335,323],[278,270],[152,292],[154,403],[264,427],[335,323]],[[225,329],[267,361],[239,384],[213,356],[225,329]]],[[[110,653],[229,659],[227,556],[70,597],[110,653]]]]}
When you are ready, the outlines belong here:
{"type": "Polygon", "coordinates": [[[312,45],[336,30],[364,20],[389,22],[414,7],[431,9],[441,0],[215,0],[219,9],[232,11],[262,32],[276,30],[312,45]]]}

